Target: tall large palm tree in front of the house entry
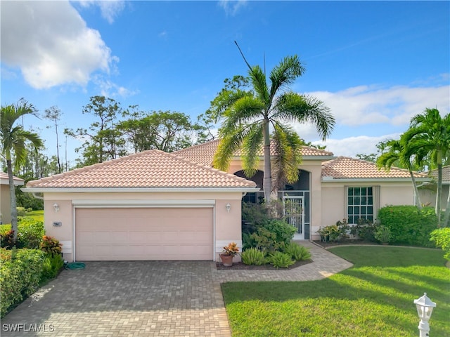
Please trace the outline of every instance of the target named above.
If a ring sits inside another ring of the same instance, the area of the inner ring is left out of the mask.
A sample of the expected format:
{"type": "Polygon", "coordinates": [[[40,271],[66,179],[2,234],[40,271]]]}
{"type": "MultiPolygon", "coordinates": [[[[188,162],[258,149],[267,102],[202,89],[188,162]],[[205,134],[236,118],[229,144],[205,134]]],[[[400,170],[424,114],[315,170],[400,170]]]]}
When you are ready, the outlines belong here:
{"type": "Polygon", "coordinates": [[[266,201],[270,201],[271,131],[278,147],[276,176],[293,183],[298,178],[302,140],[290,125],[295,122],[311,122],[325,140],[333,130],[335,119],[320,100],[285,90],[304,72],[297,55],[284,58],[271,70],[270,85],[267,84],[266,74],[261,67],[250,67],[246,60],[245,62],[249,68],[251,90],[243,91],[238,88],[236,91],[221,91],[215,99],[221,104],[219,110],[223,123],[219,128],[221,141],[214,155],[213,165],[226,171],[233,153],[241,150],[243,171],[246,176],[252,177],[257,172],[259,149],[263,146],[264,197],[266,201]]]}

